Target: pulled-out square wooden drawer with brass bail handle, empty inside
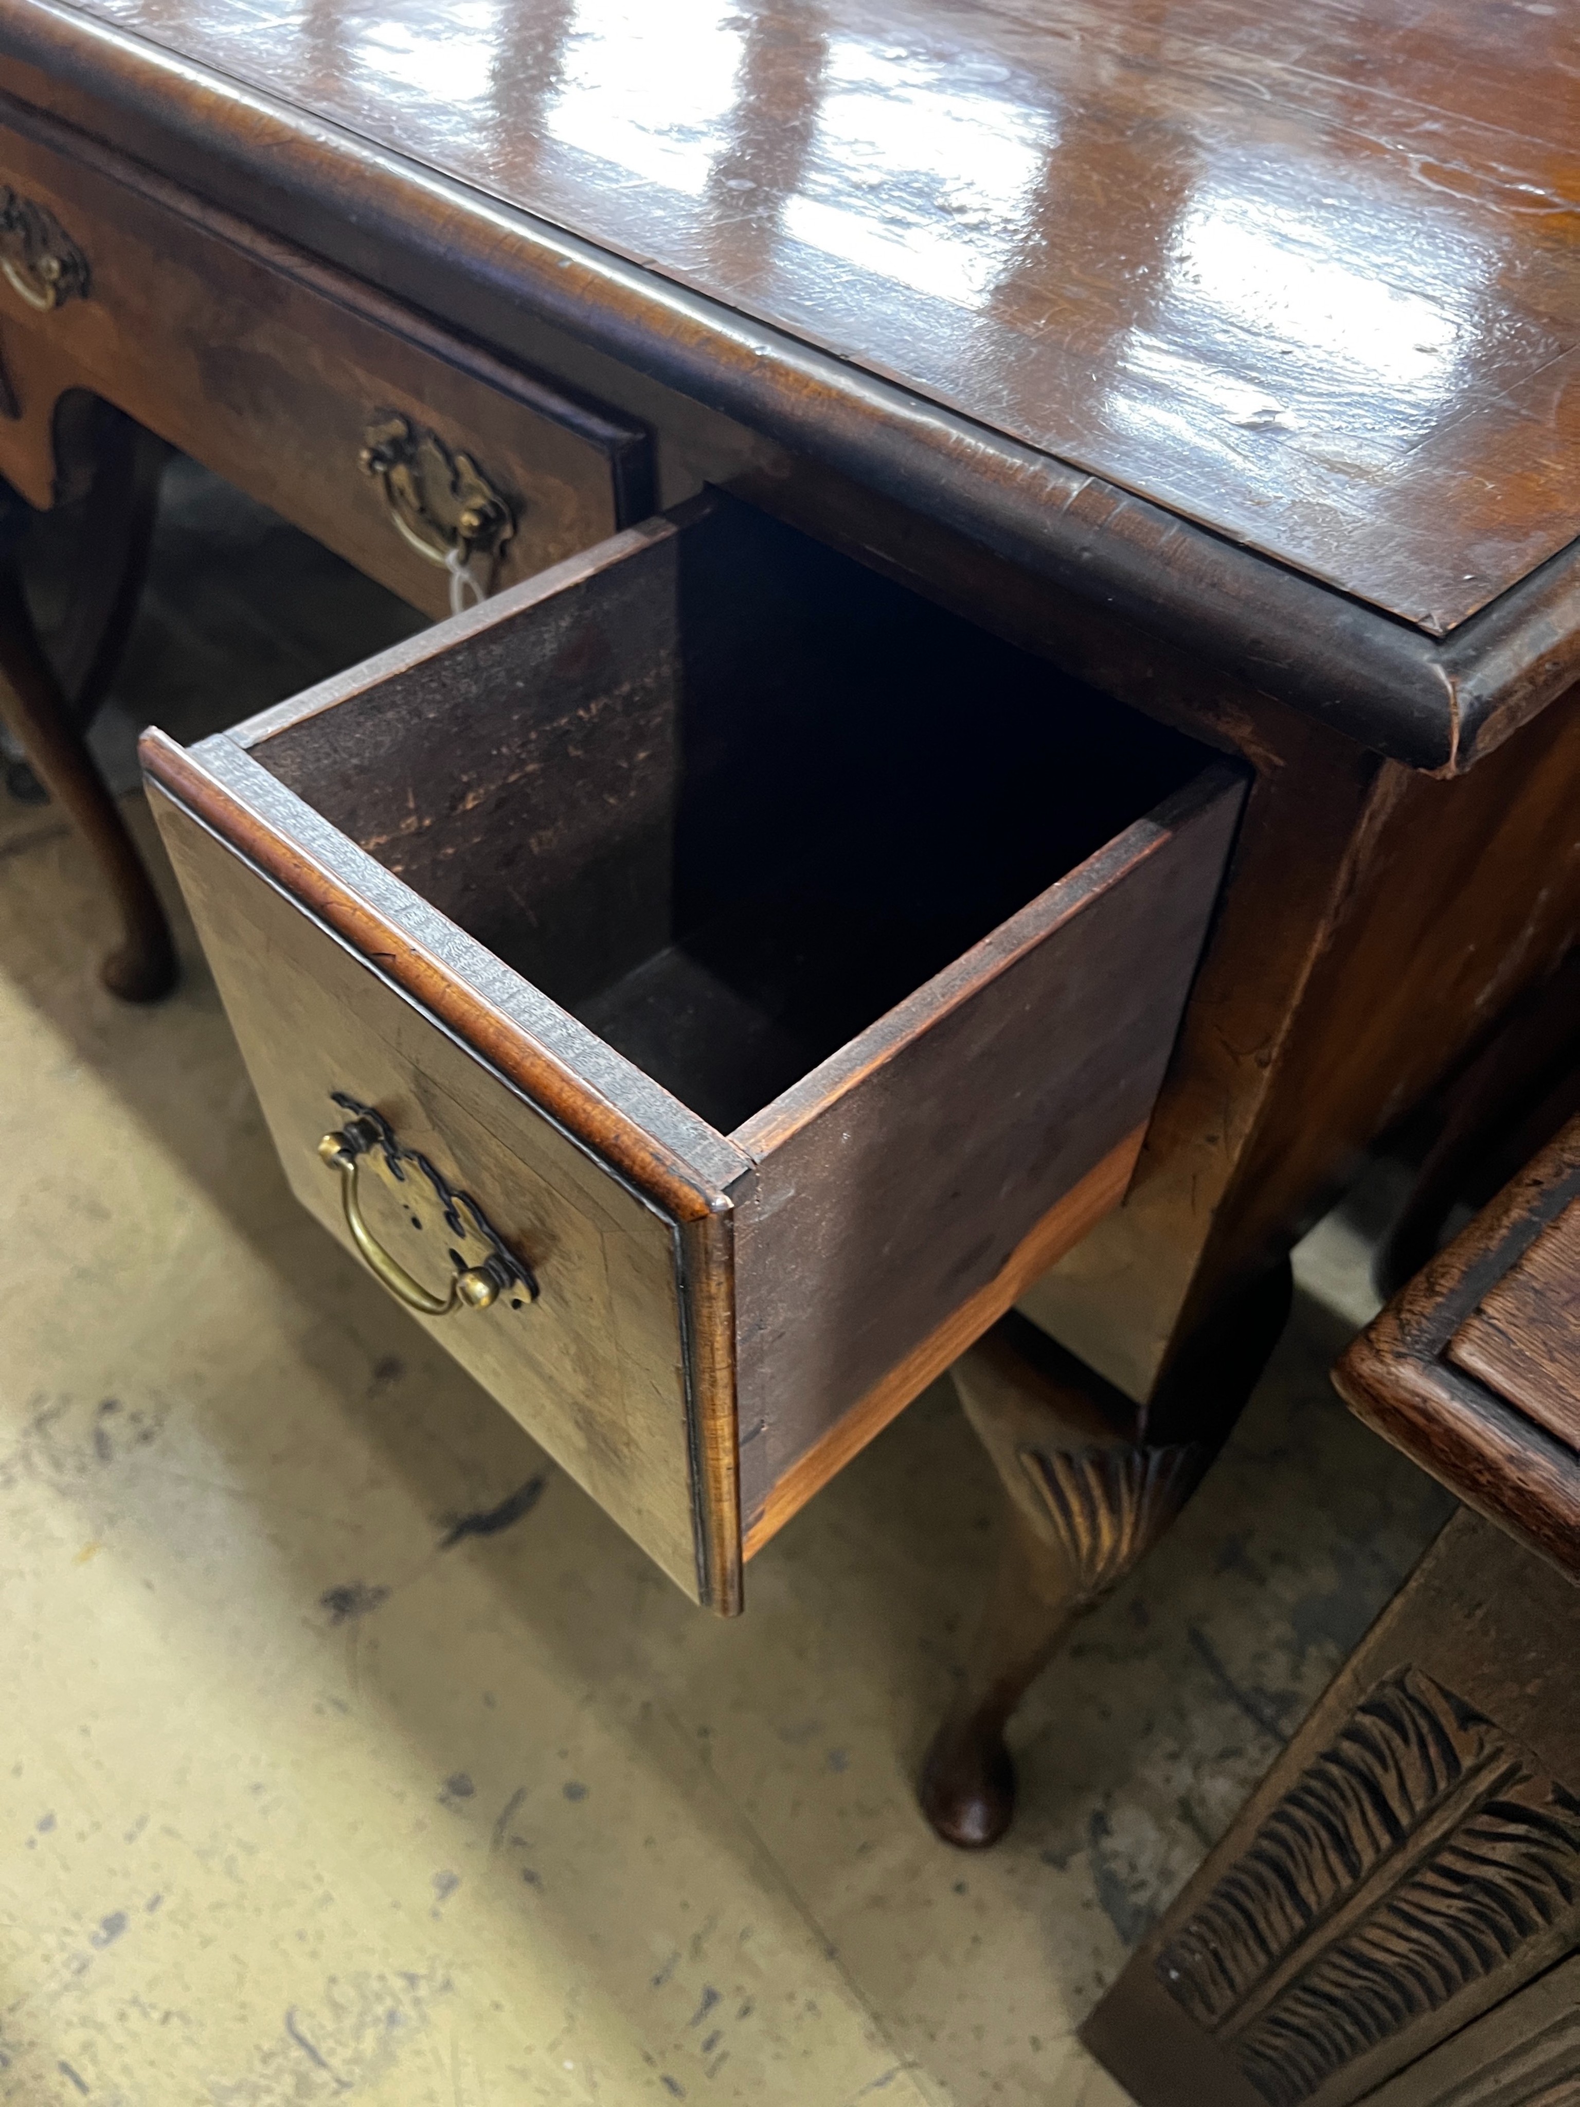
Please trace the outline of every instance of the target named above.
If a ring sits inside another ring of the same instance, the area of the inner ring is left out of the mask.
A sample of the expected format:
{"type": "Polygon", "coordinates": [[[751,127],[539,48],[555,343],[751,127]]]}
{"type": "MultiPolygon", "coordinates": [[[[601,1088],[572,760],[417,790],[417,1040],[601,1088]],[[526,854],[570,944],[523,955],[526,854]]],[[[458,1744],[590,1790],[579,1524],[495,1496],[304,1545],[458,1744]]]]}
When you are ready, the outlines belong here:
{"type": "Polygon", "coordinates": [[[143,759],[297,1197],[720,1610],[1123,1197],[1243,794],[714,495],[143,759]]]}

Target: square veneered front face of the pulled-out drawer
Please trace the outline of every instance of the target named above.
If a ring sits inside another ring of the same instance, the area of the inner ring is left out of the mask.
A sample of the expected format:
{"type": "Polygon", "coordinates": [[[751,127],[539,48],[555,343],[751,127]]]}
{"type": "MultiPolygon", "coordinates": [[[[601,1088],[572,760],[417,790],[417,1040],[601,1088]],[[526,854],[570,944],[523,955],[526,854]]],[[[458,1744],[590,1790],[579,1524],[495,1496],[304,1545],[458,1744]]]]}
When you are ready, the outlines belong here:
{"type": "MultiPolygon", "coordinates": [[[[356,1249],[318,1155],[348,1123],[337,1094],[377,1106],[476,1199],[537,1298],[419,1321],[697,1597],[676,1222],[190,811],[158,792],[156,811],[297,1199],[356,1249]]],[[[428,1199],[396,1205],[367,1171],[360,1188],[379,1245],[421,1285],[442,1281],[451,1235],[428,1199]]]]}

